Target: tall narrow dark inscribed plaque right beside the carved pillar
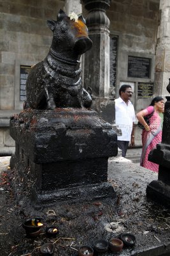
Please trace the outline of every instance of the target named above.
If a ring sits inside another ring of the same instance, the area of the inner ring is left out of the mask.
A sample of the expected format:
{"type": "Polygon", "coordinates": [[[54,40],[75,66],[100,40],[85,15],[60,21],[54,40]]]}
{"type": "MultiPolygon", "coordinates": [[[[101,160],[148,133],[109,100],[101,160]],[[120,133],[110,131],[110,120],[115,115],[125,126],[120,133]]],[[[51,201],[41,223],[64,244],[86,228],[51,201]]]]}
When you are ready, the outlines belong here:
{"type": "Polygon", "coordinates": [[[110,86],[116,86],[118,36],[110,37],[110,86]]]}

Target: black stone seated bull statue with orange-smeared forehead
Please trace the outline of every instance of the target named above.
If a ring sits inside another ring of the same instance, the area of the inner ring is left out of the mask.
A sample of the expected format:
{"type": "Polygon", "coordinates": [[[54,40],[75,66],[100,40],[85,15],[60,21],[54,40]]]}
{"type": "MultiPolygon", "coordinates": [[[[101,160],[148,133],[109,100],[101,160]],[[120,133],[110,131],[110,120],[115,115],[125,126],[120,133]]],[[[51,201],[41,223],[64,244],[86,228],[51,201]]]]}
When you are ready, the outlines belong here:
{"type": "Polygon", "coordinates": [[[53,31],[52,45],[45,60],[31,69],[24,108],[90,107],[92,99],[82,87],[79,60],[92,47],[92,41],[85,20],[81,15],[77,18],[71,19],[60,10],[57,21],[47,21],[53,31]]]}

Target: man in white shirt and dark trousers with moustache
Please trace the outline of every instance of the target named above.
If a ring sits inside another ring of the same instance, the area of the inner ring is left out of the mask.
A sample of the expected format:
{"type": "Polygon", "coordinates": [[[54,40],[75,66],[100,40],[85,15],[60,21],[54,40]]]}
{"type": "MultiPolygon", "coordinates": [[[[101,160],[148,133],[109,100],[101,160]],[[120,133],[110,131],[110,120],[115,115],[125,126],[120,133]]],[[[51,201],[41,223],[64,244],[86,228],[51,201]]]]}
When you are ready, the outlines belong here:
{"type": "Polygon", "coordinates": [[[134,146],[134,121],[135,113],[132,105],[132,87],[123,84],[119,89],[120,97],[115,99],[115,122],[118,128],[122,130],[122,136],[118,136],[118,147],[122,150],[122,156],[125,157],[129,141],[131,147],[134,146]]]}

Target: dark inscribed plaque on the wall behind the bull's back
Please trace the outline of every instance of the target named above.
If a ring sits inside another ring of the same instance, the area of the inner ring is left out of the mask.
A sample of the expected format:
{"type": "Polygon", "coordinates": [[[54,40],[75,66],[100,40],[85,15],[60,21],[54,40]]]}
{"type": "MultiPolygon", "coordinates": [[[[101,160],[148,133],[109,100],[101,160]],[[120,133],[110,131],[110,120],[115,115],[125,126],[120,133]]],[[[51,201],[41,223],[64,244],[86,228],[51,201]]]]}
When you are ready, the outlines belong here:
{"type": "Polygon", "coordinates": [[[20,65],[20,101],[26,100],[25,84],[31,70],[31,66],[20,65]]]}

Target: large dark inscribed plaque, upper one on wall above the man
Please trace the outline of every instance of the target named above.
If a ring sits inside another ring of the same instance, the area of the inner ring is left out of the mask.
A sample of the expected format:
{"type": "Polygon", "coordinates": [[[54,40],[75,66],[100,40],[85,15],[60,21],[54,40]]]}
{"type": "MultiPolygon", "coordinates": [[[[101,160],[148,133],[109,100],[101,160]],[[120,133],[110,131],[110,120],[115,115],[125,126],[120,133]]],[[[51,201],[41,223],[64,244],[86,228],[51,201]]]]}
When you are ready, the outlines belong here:
{"type": "Polygon", "coordinates": [[[150,58],[128,56],[128,77],[150,78],[150,58]]]}

